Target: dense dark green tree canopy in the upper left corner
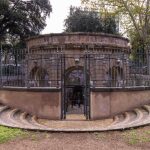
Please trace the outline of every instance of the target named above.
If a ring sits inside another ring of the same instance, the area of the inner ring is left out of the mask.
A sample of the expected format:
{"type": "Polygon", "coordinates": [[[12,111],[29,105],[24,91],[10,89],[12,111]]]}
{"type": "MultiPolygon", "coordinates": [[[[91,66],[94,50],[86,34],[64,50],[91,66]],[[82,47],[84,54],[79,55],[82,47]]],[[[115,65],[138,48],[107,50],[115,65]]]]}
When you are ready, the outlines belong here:
{"type": "Polygon", "coordinates": [[[0,37],[39,34],[51,11],[49,0],[0,0],[0,37]]]}

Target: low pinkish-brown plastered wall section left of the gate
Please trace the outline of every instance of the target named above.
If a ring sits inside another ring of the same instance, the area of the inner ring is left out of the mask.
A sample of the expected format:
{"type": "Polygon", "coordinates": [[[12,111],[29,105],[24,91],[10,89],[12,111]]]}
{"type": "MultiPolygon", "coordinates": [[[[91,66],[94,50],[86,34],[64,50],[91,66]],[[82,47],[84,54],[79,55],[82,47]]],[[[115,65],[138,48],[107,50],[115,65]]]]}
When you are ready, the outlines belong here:
{"type": "Polygon", "coordinates": [[[59,89],[1,89],[0,103],[38,117],[61,119],[61,91],[59,89]]]}

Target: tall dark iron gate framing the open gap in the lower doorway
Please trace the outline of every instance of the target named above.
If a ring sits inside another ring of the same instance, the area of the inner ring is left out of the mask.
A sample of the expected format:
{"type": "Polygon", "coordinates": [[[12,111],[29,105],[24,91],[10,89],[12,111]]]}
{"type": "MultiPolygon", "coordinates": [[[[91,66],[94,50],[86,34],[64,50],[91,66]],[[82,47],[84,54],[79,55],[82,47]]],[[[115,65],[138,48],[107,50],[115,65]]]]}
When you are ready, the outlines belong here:
{"type": "MultiPolygon", "coordinates": [[[[70,89],[81,89],[83,102],[83,114],[86,119],[90,118],[90,70],[89,70],[89,56],[85,55],[63,55],[61,59],[62,64],[62,119],[66,118],[68,105],[70,104],[69,90],[70,89]],[[77,74],[76,74],[77,73],[77,74]],[[69,76],[70,75],[70,76],[69,76]],[[74,75],[73,78],[71,78],[74,75]],[[78,80],[77,80],[78,79],[78,80]]],[[[81,94],[80,93],[80,94],[81,94]]],[[[72,100],[71,103],[75,101],[72,100]]],[[[81,104],[82,104],[81,102],[81,104]]],[[[71,104],[70,104],[71,105],[71,104]]]]}

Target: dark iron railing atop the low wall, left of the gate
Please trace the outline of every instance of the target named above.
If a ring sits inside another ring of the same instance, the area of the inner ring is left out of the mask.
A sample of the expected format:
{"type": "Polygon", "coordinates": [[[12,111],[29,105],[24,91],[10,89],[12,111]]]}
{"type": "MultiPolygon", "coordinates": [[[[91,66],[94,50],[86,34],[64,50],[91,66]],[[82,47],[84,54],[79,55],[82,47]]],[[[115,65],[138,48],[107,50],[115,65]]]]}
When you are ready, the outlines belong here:
{"type": "Polygon", "coordinates": [[[0,58],[1,87],[61,88],[61,53],[1,50],[0,58]]]}

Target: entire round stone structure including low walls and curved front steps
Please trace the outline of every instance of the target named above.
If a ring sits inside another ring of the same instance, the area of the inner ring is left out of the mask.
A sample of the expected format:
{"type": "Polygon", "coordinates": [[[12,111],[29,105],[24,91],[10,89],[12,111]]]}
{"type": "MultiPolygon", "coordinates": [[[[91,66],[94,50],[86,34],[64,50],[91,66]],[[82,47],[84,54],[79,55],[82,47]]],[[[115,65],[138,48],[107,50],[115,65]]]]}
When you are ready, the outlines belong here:
{"type": "Polygon", "coordinates": [[[144,118],[143,124],[149,123],[150,91],[149,86],[143,87],[149,75],[133,73],[128,39],[103,33],[61,33],[26,42],[22,86],[0,90],[0,103],[5,105],[0,112],[2,125],[8,125],[4,112],[10,120],[19,114],[21,128],[21,122],[27,121],[24,128],[54,131],[122,129],[137,122],[142,125],[144,118]]]}

